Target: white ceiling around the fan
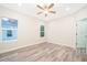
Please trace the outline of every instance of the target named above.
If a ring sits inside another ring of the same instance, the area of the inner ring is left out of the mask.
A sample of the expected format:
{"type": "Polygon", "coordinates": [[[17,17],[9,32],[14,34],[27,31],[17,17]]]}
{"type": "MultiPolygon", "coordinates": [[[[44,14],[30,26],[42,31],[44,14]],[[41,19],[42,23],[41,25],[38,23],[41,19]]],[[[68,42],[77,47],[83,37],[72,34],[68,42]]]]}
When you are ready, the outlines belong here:
{"type": "MultiPolygon", "coordinates": [[[[41,9],[39,9],[35,3],[22,3],[22,4],[2,3],[0,6],[21,12],[29,17],[34,17],[44,21],[51,21],[54,19],[66,17],[68,14],[73,14],[74,12],[83,9],[87,4],[86,3],[56,3],[53,7],[53,10],[56,11],[56,13],[55,14],[48,13],[47,17],[45,17],[44,14],[36,14],[37,12],[41,11],[41,9]]],[[[44,4],[40,4],[40,6],[43,7],[44,4]]]]}

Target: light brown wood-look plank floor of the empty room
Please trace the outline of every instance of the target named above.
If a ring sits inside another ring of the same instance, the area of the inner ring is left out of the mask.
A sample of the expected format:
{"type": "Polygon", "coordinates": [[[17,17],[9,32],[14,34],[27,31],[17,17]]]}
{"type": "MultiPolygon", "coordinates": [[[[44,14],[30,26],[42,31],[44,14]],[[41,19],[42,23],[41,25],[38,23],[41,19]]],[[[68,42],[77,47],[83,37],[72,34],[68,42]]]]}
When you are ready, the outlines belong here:
{"type": "Polygon", "coordinates": [[[79,62],[80,56],[72,47],[41,43],[0,54],[1,62],[79,62]]]}

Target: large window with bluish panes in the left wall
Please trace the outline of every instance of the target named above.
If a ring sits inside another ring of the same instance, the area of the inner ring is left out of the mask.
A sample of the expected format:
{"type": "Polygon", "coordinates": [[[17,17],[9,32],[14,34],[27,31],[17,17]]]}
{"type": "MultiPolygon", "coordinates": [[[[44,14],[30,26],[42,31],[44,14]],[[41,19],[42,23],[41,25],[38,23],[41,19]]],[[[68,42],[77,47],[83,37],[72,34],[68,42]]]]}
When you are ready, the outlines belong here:
{"type": "Polygon", "coordinates": [[[14,41],[18,39],[18,20],[2,18],[0,21],[0,41],[14,41]]]}

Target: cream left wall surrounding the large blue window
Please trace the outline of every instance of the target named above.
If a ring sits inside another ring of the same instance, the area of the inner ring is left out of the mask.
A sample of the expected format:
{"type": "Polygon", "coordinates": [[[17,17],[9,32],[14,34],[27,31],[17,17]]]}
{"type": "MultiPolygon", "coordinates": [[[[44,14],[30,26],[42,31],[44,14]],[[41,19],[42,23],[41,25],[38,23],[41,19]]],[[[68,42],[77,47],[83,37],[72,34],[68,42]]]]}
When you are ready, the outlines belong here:
{"type": "Polygon", "coordinates": [[[0,18],[2,17],[18,20],[18,41],[0,42],[0,53],[45,42],[45,37],[40,37],[40,25],[44,24],[43,21],[0,7],[0,18]]]}

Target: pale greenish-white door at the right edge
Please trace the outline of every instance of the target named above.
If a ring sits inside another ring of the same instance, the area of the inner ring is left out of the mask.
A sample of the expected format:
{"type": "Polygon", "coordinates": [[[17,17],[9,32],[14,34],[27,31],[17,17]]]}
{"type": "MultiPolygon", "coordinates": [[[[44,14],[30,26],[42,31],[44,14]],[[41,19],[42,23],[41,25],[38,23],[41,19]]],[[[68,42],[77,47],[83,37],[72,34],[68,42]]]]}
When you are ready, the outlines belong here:
{"type": "Polygon", "coordinates": [[[77,21],[77,47],[87,47],[87,19],[77,21]]]}

